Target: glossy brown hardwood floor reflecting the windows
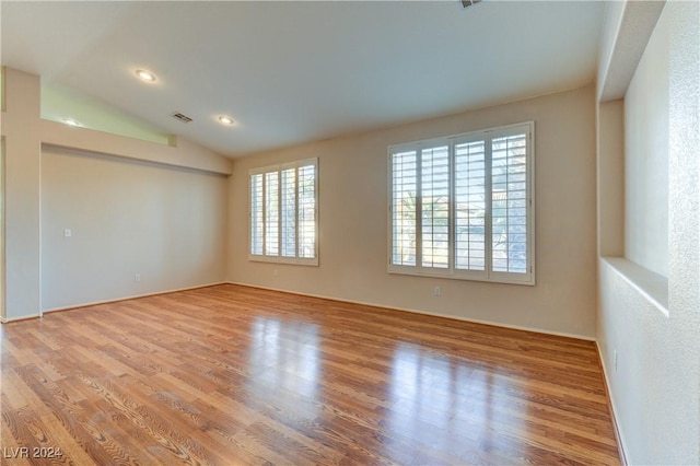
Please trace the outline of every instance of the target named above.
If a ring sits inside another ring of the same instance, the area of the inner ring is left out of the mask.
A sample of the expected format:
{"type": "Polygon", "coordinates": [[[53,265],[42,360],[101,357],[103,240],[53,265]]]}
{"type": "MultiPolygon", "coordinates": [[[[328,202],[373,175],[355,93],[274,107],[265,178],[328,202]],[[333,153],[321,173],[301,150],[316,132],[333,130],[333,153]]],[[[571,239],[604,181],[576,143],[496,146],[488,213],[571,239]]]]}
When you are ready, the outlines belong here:
{"type": "Polygon", "coordinates": [[[590,341],[237,286],[0,331],[2,464],[619,464],[590,341]]]}

